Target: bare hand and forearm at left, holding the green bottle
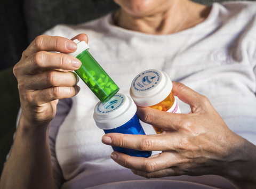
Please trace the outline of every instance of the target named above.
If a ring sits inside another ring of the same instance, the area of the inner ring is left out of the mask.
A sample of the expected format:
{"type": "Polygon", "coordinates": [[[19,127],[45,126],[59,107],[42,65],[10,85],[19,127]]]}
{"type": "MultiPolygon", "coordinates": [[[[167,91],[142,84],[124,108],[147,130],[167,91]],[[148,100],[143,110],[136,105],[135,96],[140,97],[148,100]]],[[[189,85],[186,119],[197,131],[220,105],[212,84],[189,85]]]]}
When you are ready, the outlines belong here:
{"type": "MultiPolygon", "coordinates": [[[[75,38],[88,42],[85,34],[75,38]]],[[[79,92],[78,78],[70,71],[81,62],[63,54],[76,48],[70,39],[38,36],[14,66],[22,113],[0,188],[54,188],[48,131],[58,99],[79,92]]]]}

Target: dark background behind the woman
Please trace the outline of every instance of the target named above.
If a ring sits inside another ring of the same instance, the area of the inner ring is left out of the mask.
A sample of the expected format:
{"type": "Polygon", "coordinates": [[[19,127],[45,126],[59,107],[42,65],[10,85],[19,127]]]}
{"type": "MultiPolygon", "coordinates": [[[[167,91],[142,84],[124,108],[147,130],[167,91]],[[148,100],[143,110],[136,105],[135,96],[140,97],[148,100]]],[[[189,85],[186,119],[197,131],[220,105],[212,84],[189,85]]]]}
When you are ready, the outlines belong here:
{"type": "MultiPolygon", "coordinates": [[[[194,1],[206,5],[222,2],[194,1]]],[[[82,23],[117,9],[118,6],[112,0],[0,1],[0,174],[13,142],[20,107],[18,84],[12,68],[20,60],[22,52],[36,36],[56,24],[82,23]]]]}

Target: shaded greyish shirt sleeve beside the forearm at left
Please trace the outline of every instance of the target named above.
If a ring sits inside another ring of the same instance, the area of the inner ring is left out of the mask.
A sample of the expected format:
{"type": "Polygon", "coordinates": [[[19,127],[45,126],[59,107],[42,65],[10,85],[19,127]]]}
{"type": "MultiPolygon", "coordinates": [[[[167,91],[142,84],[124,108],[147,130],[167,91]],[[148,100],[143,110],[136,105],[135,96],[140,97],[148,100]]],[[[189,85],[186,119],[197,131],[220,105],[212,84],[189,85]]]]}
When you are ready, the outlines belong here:
{"type": "Polygon", "coordinates": [[[71,98],[60,99],[57,104],[57,112],[54,119],[51,121],[49,129],[49,143],[51,150],[51,161],[52,161],[52,171],[53,179],[55,183],[55,188],[60,188],[64,181],[60,165],[55,153],[55,141],[58,135],[59,128],[62,122],[65,120],[69,110],[72,106],[71,98]]]}

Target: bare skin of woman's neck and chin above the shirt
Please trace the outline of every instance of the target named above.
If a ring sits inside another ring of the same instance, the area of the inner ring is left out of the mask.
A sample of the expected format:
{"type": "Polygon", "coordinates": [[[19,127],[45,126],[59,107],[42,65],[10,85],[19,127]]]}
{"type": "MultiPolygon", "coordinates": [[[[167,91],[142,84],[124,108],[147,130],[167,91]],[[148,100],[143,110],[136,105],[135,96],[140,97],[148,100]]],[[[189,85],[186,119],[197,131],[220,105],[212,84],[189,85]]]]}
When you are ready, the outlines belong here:
{"type": "Polygon", "coordinates": [[[211,7],[187,0],[114,0],[121,9],[114,15],[119,27],[146,34],[173,34],[204,21],[211,7]]]}

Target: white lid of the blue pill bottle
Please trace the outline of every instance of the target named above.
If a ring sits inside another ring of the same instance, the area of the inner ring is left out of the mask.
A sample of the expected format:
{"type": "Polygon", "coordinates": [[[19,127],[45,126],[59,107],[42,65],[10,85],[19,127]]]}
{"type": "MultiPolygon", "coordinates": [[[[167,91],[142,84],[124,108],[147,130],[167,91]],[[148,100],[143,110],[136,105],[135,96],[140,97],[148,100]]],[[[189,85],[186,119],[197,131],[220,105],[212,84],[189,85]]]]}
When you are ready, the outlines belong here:
{"type": "Polygon", "coordinates": [[[136,111],[137,106],[131,97],[117,93],[109,101],[95,106],[93,119],[101,129],[114,129],[132,119],[136,111]]]}

